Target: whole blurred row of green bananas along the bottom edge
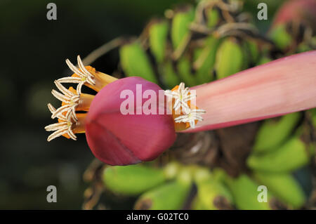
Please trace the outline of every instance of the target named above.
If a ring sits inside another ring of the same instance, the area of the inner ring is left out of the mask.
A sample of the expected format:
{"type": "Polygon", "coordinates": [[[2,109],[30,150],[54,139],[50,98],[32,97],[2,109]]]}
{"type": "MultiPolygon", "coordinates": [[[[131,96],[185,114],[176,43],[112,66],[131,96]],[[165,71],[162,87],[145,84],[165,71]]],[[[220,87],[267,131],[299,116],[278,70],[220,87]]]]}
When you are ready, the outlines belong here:
{"type": "MultiPolygon", "coordinates": [[[[269,154],[273,152],[268,151],[269,154]]],[[[266,156],[262,153],[258,155],[266,156]]],[[[249,175],[244,173],[232,178],[220,168],[210,170],[178,162],[170,162],[162,167],[144,163],[107,166],[102,179],[105,190],[116,195],[137,197],[134,209],[301,208],[312,190],[309,167],[303,164],[294,171],[272,171],[275,167],[278,169],[278,166],[270,166],[269,171],[266,168],[254,169],[249,175]],[[263,196],[262,187],[266,190],[263,196]]]]}

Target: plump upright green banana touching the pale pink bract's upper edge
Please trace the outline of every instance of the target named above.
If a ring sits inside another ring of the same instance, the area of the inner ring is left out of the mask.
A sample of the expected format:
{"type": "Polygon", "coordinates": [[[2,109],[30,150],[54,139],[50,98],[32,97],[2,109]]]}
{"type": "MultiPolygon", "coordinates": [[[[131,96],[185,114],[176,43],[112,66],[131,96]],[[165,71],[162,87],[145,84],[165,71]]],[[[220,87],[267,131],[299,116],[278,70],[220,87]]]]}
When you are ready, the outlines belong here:
{"type": "Polygon", "coordinates": [[[242,47],[232,38],[225,39],[216,53],[215,68],[218,79],[240,72],[244,67],[244,60],[242,47]]]}

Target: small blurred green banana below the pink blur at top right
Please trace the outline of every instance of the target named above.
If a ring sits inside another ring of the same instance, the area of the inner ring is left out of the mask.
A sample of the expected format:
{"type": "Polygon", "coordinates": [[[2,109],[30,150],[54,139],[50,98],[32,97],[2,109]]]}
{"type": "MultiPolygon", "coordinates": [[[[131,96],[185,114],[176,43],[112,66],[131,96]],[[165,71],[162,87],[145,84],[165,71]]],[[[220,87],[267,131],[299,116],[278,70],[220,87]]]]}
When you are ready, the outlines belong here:
{"type": "Polygon", "coordinates": [[[275,42],[275,45],[282,50],[288,48],[293,41],[293,38],[287,32],[287,28],[283,24],[274,27],[269,36],[270,39],[275,42]]]}

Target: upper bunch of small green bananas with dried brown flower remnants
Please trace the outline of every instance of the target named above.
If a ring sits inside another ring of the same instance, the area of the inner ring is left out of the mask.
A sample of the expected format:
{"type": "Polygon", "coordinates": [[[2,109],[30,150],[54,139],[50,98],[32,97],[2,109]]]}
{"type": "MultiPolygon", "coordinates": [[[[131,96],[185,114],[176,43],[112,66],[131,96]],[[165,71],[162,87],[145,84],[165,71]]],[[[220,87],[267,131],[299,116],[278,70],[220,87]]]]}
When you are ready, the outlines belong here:
{"type": "Polygon", "coordinates": [[[121,46],[124,74],[173,88],[180,81],[195,86],[266,62],[259,44],[269,43],[256,38],[241,6],[242,1],[204,0],[196,8],[166,11],[166,18],[150,21],[138,39],[121,46]]]}

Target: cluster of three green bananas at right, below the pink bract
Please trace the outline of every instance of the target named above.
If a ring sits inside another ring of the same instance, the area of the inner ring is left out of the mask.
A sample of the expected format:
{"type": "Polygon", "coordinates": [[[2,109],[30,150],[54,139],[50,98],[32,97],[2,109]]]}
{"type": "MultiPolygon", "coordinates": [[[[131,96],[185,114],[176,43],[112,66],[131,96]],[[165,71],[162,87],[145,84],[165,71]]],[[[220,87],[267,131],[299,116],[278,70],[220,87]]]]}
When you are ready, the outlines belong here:
{"type": "Polygon", "coordinates": [[[299,209],[311,192],[310,160],[315,142],[303,138],[302,114],[265,120],[247,159],[253,178],[268,187],[280,202],[299,209]]]}

